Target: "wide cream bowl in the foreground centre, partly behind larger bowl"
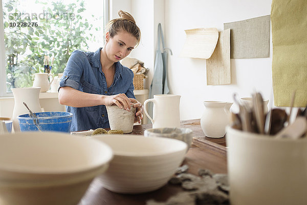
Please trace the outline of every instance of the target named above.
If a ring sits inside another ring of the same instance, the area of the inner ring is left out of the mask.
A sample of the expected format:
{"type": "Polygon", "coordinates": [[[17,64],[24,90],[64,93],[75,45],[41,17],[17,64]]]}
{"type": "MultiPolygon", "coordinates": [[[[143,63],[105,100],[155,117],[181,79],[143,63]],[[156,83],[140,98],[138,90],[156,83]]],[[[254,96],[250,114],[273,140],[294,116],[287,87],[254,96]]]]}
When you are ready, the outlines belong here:
{"type": "Polygon", "coordinates": [[[114,151],[109,169],[98,178],[117,193],[136,194],[163,187],[184,159],[187,144],[177,139],[139,135],[95,135],[114,151]]]}

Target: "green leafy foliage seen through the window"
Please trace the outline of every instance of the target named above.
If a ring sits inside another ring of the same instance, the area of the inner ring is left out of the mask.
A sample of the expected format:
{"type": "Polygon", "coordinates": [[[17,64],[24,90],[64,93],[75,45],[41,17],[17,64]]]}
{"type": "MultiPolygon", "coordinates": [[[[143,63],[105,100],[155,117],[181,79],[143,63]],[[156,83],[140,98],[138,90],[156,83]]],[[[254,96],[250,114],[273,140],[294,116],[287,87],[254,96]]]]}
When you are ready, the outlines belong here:
{"type": "MultiPolygon", "coordinates": [[[[54,56],[51,73],[57,75],[63,72],[74,50],[87,50],[86,40],[95,40],[93,34],[88,34],[93,25],[82,16],[83,1],[68,5],[52,2],[52,7],[45,7],[40,16],[18,11],[17,3],[18,0],[10,0],[3,5],[7,92],[11,88],[31,87],[32,74],[43,72],[45,55],[54,56]],[[21,22],[24,26],[20,26],[21,22]]],[[[47,5],[47,2],[36,1],[36,4],[47,5]]],[[[49,64],[51,61],[52,58],[49,64]]]]}

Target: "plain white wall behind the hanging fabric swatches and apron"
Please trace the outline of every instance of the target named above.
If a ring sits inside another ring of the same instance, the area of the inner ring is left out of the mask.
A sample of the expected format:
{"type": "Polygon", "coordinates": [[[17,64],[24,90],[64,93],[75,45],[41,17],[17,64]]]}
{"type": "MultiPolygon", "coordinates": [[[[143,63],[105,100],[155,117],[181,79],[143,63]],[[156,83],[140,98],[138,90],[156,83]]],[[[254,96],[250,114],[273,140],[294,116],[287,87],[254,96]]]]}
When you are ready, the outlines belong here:
{"type": "MultiPolygon", "coordinates": [[[[244,20],[271,12],[271,0],[110,0],[110,19],[117,10],[130,11],[141,29],[141,44],[129,57],[138,58],[150,69],[145,80],[149,88],[155,63],[158,23],[162,24],[168,55],[168,82],[172,94],[181,95],[181,119],[200,118],[204,100],[233,101],[232,95],[250,96],[256,90],[272,99],[272,37],[269,58],[231,59],[231,85],[206,85],[206,60],[180,58],[185,42],[185,29],[210,28],[224,30],[224,23],[244,20]]],[[[236,111],[237,107],[232,107],[236,111]]]]}

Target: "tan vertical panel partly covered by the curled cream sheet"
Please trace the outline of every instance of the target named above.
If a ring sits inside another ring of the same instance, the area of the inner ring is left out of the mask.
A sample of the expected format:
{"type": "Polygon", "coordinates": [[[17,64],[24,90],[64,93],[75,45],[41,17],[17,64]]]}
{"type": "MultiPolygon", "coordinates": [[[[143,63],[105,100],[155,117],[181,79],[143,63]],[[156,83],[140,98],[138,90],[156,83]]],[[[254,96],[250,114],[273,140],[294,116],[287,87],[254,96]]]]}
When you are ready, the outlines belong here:
{"type": "Polygon", "coordinates": [[[207,85],[230,84],[230,29],[218,32],[218,41],[206,60],[207,85]]]}

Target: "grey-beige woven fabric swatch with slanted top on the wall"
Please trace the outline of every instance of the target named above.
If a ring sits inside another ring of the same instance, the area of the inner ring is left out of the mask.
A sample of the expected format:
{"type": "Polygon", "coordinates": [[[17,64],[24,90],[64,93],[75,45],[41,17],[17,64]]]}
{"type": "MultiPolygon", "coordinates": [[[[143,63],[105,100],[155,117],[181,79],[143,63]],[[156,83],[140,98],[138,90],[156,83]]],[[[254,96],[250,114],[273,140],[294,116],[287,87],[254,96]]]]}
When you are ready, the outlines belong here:
{"type": "Polygon", "coordinates": [[[224,23],[230,31],[230,58],[269,57],[270,15],[224,23]]]}

